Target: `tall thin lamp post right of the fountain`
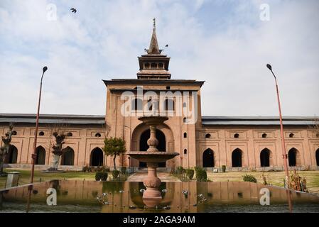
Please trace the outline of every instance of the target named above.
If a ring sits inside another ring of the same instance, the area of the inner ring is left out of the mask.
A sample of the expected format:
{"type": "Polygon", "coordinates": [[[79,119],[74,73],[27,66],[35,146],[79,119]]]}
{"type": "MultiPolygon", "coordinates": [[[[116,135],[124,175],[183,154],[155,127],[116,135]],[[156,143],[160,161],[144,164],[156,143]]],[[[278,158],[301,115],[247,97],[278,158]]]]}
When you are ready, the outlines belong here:
{"type": "Polygon", "coordinates": [[[282,148],[282,155],[283,155],[283,166],[285,167],[285,172],[286,172],[286,182],[285,182],[285,187],[288,188],[289,184],[289,175],[288,175],[288,165],[287,165],[287,154],[286,154],[286,145],[285,145],[285,138],[283,135],[283,119],[281,116],[281,105],[280,105],[280,99],[279,99],[279,89],[278,89],[278,84],[277,84],[277,78],[271,68],[271,65],[267,64],[267,68],[271,71],[271,73],[274,75],[275,82],[276,82],[276,92],[277,92],[277,99],[278,99],[278,106],[279,106],[279,121],[280,121],[280,133],[281,133],[281,148],[282,148]]]}

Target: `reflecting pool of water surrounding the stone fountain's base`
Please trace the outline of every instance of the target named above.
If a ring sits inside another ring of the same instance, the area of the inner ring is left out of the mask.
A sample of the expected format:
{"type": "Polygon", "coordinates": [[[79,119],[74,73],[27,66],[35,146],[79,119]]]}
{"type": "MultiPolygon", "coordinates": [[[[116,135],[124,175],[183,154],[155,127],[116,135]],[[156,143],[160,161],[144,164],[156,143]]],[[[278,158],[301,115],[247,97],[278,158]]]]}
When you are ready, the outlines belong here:
{"type": "Polygon", "coordinates": [[[162,182],[160,200],[142,199],[143,189],[143,182],[54,180],[1,191],[0,212],[319,212],[319,196],[252,182],[162,182]],[[56,206],[47,204],[50,188],[56,206]]]}

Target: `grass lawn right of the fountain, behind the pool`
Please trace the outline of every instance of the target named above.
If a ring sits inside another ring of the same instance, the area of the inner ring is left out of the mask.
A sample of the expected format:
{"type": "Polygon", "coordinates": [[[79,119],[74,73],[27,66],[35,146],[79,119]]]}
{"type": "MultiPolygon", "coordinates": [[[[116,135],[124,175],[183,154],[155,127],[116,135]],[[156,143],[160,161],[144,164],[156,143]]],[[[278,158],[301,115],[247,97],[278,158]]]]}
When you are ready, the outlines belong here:
{"type": "MultiPolygon", "coordinates": [[[[262,184],[262,172],[225,172],[225,173],[213,173],[207,172],[207,178],[213,182],[227,182],[227,181],[239,181],[242,182],[242,176],[245,174],[253,175],[257,181],[262,184]]],[[[301,177],[306,177],[307,188],[309,192],[319,194],[319,171],[300,171],[298,174],[301,177]]],[[[283,187],[283,179],[285,178],[285,172],[264,172],[267,182],[271,185],[283,187]]]]}

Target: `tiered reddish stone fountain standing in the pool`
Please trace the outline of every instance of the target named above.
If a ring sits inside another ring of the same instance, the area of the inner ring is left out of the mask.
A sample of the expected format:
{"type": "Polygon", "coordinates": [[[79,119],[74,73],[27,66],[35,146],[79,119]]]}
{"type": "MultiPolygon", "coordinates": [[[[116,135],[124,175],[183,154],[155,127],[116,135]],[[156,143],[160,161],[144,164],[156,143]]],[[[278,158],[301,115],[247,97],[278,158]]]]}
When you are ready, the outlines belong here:
{"type": "MultiPolygon", "coordinates": [[[[166,116],[144,116],[139,118],[143,121],[151,131],[151,136],[147,140],[147,145],[149,148],[147,151],[131,151],[128,153],[129,156],[139,160],[140,162],[146,162],[148,175],[144,179],[144,186],[146,190],[143,194],[143,199],[162,199],[161,192],[158,188],[161,185],[161,179],[157,177],[156,168],[159,162],[166,162],[176,155],[176,152],[163,152],[158,151],[156,146],[158,145],[158,140],[156,138],[156,126],[163,124],[164,121],[168,120],[166,116]]],[[[152,201],[150,200],[152,203],[152,201]]]]}

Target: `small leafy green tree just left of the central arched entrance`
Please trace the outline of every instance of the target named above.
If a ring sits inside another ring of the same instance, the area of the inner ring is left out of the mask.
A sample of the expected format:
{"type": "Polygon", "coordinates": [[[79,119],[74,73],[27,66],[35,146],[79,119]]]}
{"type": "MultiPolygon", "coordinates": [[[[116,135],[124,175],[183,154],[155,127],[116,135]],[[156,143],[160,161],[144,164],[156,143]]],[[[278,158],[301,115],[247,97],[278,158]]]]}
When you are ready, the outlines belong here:
{"type": "Polygon", "coordinates": [[[122,138],[105,138],[104,140],[104,153],[107,156],[114,156],[114,170],[117,170],[115,159],[118,155],[126,153],[125,141],[122,138]]]}

